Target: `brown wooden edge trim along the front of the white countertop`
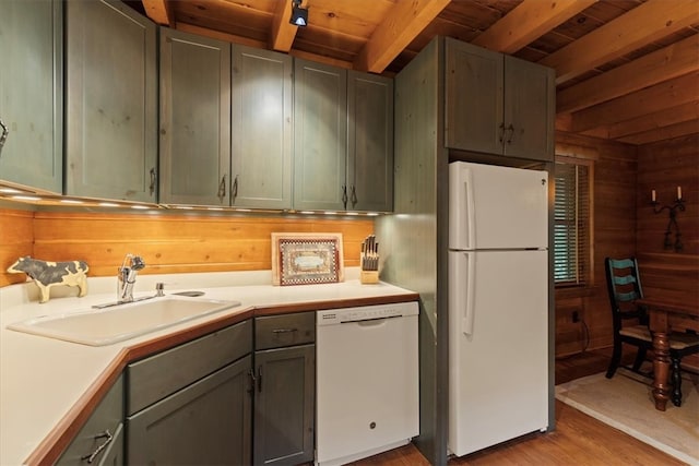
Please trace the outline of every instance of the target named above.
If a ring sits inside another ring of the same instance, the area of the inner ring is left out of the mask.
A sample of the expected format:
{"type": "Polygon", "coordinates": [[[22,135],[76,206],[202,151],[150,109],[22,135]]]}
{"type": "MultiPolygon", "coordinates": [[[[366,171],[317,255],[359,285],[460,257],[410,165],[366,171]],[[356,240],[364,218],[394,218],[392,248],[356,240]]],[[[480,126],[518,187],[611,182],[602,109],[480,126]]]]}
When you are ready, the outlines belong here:
{"type": "Polygon", "coordinates": [[[107,394],[114,382],[131,361],[171,348],[209,333],[216,332],[217,330],[242,322],[246,319],[253,316],[321,311],[324,309],[353,308],[357,306],[393,304],[398,302],[416,301],[418,299],[419,295],[415,292],[371,298],[252,307],[237,314],[225,315],[221,319],[204,322],[158,338],[125,347],[80,397],[78,403],[70,408],[66,416],[63,416],[54,429],[51,429],[48,435],[32,452],[32,454],[26,458],[25,464],[31,466],[55,464],[70,442],[73,441],[83,425],[87,421],[92,411],[107,394]]]}

